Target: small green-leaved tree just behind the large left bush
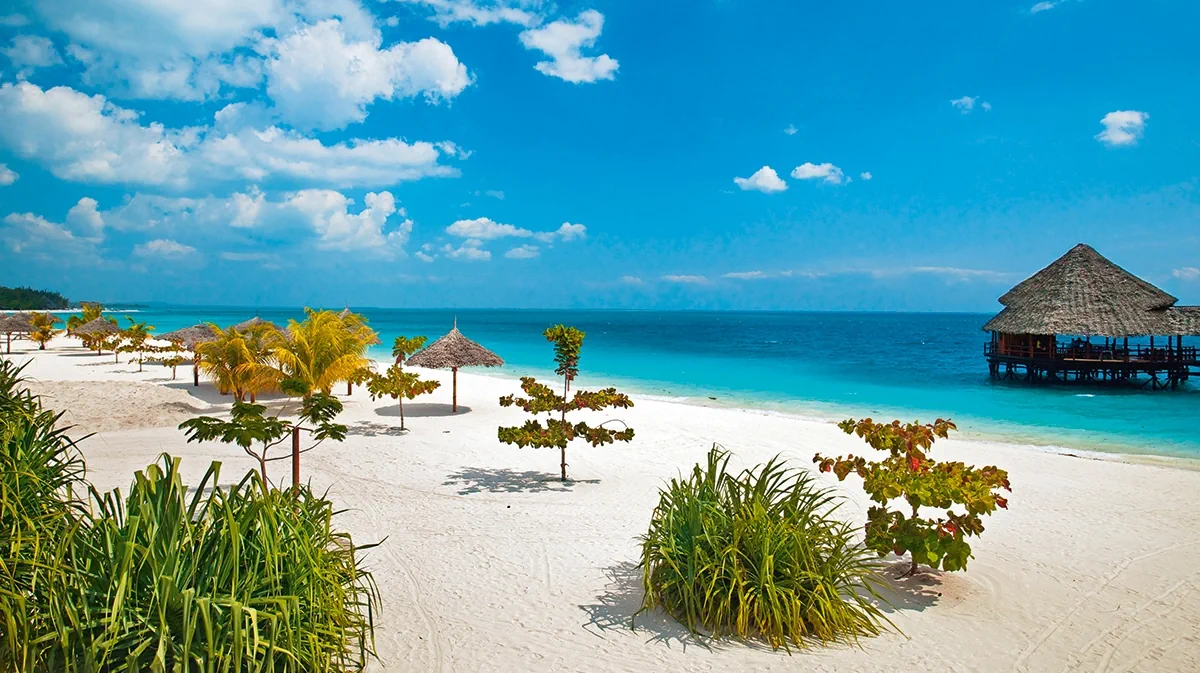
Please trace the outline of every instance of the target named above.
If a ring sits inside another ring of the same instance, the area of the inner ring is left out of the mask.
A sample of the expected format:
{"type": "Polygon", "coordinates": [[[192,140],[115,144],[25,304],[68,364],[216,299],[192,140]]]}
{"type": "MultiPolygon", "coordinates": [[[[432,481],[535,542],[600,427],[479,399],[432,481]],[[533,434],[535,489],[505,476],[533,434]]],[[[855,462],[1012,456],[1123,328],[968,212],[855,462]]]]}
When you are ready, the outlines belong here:
{"type": "Polygon", "coordinates": [[[288,456],[269,456],[271,449],[282,444],[292,435],[292,486],[300,486],[300,453],[306,453],[319,446],[324,440],[342,441],[346,439],[346,426],[335,423],[334,419],[342,413],[342,403],[332,395],[317,392],[304,398],[300,415],[294,421],[266,415],[266,407],[246,402],[234,402],[230,419],[199,416],[179,423],[179,429],[187,434],[187,441],[222,441],[236,444],[247,456],[258,461],[263,482],[266,480],[266,463],[282,461],[288,456]],[[311,427],[310,427],[311,426],[311,427]],[[300,449],[300,432],[307,432],[316,440],[306,449],[300,449]]]}

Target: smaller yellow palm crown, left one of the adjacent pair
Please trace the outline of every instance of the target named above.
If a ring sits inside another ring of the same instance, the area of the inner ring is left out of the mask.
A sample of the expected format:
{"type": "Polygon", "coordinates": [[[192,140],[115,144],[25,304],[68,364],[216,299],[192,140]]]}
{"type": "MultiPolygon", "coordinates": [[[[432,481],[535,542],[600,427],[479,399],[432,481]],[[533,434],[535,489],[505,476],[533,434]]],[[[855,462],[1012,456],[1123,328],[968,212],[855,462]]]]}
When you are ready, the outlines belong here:
{"type": "Polygon", "coordinates": [[[222,330],[211,325],[217,338],[196,347],[200,371],[216,384],[222,395],[233,393],[245,402],[259,392],[278,387],[278,371],[272,367],[271,345],[277,331],[262,326],[246,331],[222,330]]]}

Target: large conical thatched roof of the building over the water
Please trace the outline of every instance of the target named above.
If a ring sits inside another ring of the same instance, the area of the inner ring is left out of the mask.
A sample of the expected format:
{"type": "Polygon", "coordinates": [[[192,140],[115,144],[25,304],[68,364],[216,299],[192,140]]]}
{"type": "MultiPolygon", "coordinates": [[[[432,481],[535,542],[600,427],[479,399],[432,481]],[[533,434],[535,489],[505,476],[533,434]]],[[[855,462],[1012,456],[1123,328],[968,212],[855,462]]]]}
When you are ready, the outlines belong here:
{"type": "Polygon", "coordinates": [[[1080,244],[1008,290],[984,331],[1105,337],[1200,335],[1200,307],[1174,296],[1080,244]]]}

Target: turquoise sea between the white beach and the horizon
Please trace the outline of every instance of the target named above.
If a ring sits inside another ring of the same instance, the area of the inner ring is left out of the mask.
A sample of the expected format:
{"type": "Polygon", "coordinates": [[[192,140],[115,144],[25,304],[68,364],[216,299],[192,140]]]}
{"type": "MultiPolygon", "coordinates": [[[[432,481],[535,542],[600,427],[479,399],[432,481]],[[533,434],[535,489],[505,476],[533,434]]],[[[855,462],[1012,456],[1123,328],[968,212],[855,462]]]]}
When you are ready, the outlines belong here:
{"type": "MultiPolygon", "coordinates": [[[[506,375],[551,372],[541,331],[566,323],[587,332],[584,386],[617,384],[833,419],[944,416],[967,435],[1200,458],[1200,378],[1160,392],[994,381],[983,359],[985,314],[358,311],[385,344],[401,334],[437,338],[457,314],[467,336],[505,359],[498,372],[506,375]]],[[[145,308],[136,318],[163,332],[256,313],[281,325],[304,317],[301,310],[174,307],[145,308]]],[[[373,355],[389,353],[386,345],[373,355]]]]}

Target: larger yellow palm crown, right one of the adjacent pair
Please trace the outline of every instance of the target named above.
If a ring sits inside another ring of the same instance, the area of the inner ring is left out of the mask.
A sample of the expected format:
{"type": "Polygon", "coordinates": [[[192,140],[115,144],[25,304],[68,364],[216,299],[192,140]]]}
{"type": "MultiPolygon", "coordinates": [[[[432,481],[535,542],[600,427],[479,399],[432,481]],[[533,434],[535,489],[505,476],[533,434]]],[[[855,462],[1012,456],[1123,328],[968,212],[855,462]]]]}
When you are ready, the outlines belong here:
{"type": "MultiPolygon", "coordinates": [[[[353,380],[366,367],[365,332],[332,311],[305,308],[304,323],[290,320],[287,338],[277,339],[275,361],[289,395],[329,395],[334,384],[353,380]]],[[[373,332],[372,332],[373,335],[373,332]]]]}

